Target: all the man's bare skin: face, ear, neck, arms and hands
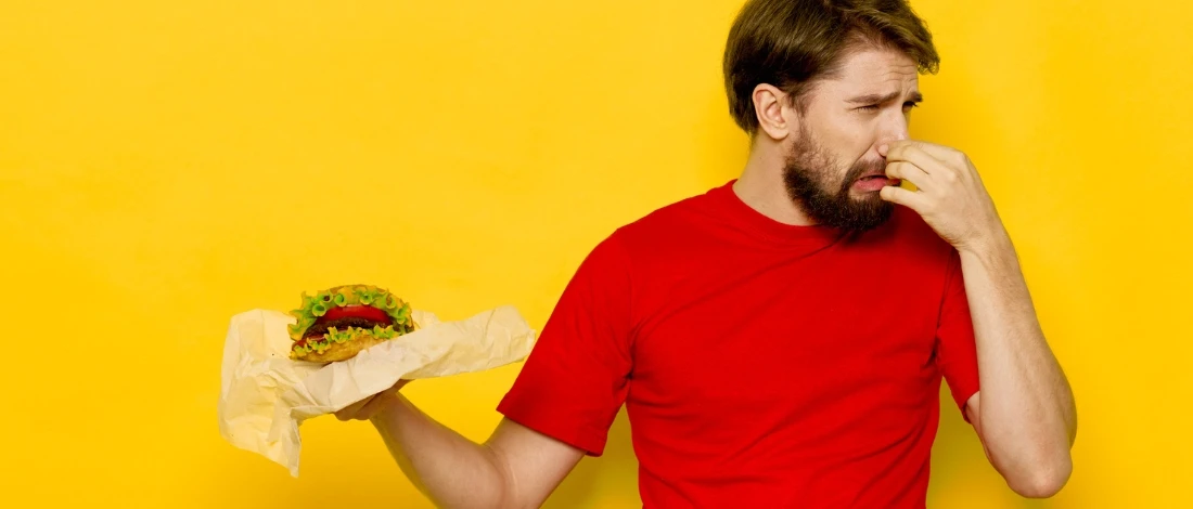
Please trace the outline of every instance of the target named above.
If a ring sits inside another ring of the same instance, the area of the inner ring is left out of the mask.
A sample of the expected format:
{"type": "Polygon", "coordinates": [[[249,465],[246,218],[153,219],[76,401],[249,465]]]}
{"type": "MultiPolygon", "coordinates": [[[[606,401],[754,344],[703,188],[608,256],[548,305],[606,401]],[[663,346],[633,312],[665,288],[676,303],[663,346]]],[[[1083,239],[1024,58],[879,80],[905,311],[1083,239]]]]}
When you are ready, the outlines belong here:
{"type": "MultiPolygon", "coordinates": [[[[1073,392],[1049,348],[1009,236],[977,169],[953,148],[908,136],[919,101],[915,62],[882,48],[861,48],[841,72],[812,87],[804,114],[780,89],[760,85],[760,126],[738,197],[787,224],[812,224],[786,194],[784,159],[801,126],[833,160],[827,188],[839,188],[859,160],[884,160],[892,181],[880,191],[854,188],[855,199],[884,199],[919,212],[960,254],[977,336],[981,392],[965,405],[987,458],[1025,497],[1049,497],[1067,483],[1076,435],[1073,392]],[[835,176],[834,176],[835,175],[835,176]]],[[[415,408],[400,383],[336,412],[373,423],[402,471],[445,508],[539,507],[583,452],[503,420],[483,443],[472,442],[415,408]]]]}

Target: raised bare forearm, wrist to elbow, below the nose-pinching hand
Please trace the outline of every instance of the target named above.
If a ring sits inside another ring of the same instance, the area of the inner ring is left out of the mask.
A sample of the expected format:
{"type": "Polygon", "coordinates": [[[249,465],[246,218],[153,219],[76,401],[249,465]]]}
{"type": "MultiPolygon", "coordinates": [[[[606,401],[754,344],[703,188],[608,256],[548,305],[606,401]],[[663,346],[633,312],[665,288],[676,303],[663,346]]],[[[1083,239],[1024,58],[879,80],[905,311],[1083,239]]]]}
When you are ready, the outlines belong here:
{"type": "Polygon", "coordinates": [[[1044,339],[1009,237],[963,249],[960,259],[977,335],[983,441],[1016,491],[1049,496],[1071,471],[1073,392],[1044,339]]]}

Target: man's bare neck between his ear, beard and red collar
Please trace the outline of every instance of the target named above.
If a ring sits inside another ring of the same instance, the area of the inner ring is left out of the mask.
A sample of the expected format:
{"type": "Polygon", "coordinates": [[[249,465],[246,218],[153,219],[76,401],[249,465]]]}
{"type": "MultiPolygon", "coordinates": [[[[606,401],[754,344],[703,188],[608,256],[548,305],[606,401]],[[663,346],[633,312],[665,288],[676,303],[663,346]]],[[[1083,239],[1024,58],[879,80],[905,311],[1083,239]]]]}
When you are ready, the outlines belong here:
{"type": "Polygon", "coordinates": [[[734,182],[734,193],[750,209],[783,224],[805,226],[812,224],[787,194],[783,181],[784,157],[778,147],[755,147],[741,176],[734,182]]]}

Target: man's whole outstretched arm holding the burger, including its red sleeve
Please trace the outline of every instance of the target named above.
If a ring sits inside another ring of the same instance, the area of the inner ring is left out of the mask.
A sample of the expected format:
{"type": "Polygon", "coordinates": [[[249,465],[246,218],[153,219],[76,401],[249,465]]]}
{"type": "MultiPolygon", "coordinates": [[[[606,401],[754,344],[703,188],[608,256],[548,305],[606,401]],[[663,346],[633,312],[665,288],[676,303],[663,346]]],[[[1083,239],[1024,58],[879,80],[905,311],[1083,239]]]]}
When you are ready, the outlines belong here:
{"type": "Polygon", "coordinates": [[[398,393],[403,384],[339,417],[370,420],[402,471],[439,507],[540,505],[585,454],[604,451],[629,393],[631,268],[629,252],[612,236],[585,257],[497,405],[507,420],[484,443],[421,412],[398,393]]]}

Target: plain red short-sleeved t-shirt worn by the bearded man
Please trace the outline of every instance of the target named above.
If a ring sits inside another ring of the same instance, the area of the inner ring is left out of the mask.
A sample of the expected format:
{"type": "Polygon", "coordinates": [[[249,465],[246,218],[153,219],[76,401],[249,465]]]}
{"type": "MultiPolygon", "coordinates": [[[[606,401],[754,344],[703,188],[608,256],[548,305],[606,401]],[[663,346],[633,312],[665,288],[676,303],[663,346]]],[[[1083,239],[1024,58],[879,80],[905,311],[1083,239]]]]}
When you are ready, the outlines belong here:
{"type": "Polygon", "coordinates": [[[648,508],[922,508],[940,380],[978,390],[959,260],[913,211],[791,226],[731,184],[596,246],[497,410],[600,455],[623,404],[648,508]]]}

